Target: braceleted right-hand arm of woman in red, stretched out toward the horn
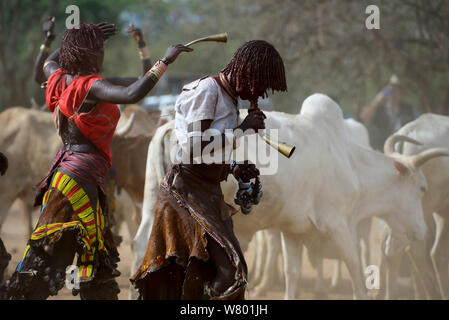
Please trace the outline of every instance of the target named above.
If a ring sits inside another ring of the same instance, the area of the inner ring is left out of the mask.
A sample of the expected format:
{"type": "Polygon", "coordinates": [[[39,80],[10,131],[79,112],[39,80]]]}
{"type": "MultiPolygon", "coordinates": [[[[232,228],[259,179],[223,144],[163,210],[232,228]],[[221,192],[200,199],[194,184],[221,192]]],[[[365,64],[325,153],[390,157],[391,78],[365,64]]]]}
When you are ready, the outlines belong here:
{"type": "Polygon", "coordinates": [[[157,83],[168,64],[173,63],[181,52],[193,49],[178,44],[167,49],[164,58],[157,61],[139,80],[128,86],[115,85],[107,79],[95,81],[89,91],[88,98],[111,103],[131,104],[142,99],[157,83]]]}

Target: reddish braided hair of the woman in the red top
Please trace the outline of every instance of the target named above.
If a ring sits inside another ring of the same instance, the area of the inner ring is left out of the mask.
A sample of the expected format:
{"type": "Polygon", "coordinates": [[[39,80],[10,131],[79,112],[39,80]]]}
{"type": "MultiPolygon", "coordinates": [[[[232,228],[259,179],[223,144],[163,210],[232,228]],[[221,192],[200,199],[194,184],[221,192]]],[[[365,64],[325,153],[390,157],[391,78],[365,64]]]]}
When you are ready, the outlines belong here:
{"type": "Polygon", "coordinates": [[[59,63],[69,74],[100,72],[99,56],[104,45],[103,31],[92,23],[80,23],[68,29],[61,43],[59,63]]]}

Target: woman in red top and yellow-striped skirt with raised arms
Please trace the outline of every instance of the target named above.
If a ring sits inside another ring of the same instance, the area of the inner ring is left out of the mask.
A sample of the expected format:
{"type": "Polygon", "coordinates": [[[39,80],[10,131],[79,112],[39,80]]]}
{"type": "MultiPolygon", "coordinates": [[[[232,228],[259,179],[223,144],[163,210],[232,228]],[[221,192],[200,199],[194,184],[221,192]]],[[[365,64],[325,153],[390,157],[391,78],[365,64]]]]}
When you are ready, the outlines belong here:
{"type": "Polygon", "coordinates": [[[181,52],[171,46],[139,80],[103,78],[103,44],[113,25],[81,23],[65,32],[61,48],[44,63],[46,104],[63,147],[37,185],[41,215],[24,258],[6,285],[7,299],[46,299],[64,286],[66,267],[77,256],[81,299],[117,299],[119,261],[103,192],[111,167],[110,144],[120,112],[117,103],[142,99],[181,52]],[[77,254],[77,255],[76,255],[77,254]]]}

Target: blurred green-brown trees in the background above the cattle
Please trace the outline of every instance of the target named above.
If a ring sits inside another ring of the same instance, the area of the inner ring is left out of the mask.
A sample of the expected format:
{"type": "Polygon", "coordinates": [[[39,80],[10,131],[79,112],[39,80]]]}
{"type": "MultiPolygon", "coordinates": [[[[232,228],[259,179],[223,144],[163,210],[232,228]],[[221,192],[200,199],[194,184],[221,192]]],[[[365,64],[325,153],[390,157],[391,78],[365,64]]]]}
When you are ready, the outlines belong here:
{"type": "Polygon", "coordinates": [[[228,32],[227,44],[198,44],[168,72],[217,74],[243,42],[264,39],[286,66],[288,92],[273,95],[276,110],[297,113],[308,95],[322,92],[354,115],[394,73],[407,103],[449,114],[449,0],[0,0],[0,110],[44,101],[32,78],[42,22],[56,17],[56,49],[70,4],[81,21],[120,30],[106,44],[104,75],[140,72],[125,32],[130,22],[143,30],[153,61],[171,44],[228,32]],[[370,4],[380,9],[380,30],[365,27],[370,4]]]}

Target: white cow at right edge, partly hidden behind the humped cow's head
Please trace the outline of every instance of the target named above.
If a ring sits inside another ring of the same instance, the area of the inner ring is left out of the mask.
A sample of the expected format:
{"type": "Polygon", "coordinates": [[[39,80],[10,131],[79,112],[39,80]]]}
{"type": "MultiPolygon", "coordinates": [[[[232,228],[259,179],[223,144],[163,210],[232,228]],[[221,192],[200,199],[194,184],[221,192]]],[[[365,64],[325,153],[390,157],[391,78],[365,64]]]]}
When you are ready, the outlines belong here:
{"type": "MultiPolygon", "coordinates": [[[[416,120],[399,129],[395,135],[413,138],[422,145],[406,143],[397,145],[404,155],[415,155],[435,147],[449,148],[449,117],[436,114],[423,114],[416,120]]],[[[386,145],[386,149],[392,149],[386,145]]],[[[389,152],[391,152],[390,150],[389,152]]],[[[431,256],[440,280],[444,298],[449,298],[448,262],[449,252],[449,159],[438,158],[422,167],[427,179],[428,189],[423,197],[424,218],[430,231],[426,239],[429,257],[431,256]],[[434,213],[436,214],[434,220],[434,213]],[[432,248],[433,246],[433,248],[432,248]]],[[[388,230],[384,239],[383,259],[387,264],[387,296],[397,298],[395,280],[401,256],[408,245],[401,237],[388,230]]],[[[419,288],[419,282],[415,284],[419,288]]],[[[419,292],[417,292],[419,297],[419,292]]]]}

